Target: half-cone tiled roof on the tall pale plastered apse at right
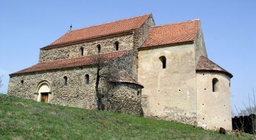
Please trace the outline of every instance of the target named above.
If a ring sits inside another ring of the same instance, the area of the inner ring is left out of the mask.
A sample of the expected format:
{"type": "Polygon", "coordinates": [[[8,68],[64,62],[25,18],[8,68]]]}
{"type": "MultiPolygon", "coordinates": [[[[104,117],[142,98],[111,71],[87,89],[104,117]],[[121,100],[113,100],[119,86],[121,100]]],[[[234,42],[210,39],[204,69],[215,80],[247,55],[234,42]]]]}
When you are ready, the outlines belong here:
{"type": "Polygon", "coordinates": [[[231,73],[223,69],[222,67],[218,66],[211,60],[207,59],[204,56],[200,56],[200,59],[198,60],[197,66],[196,66],[196,72],[214,72],[214,73],[224,73],[230,78],[233,77],[231,73]]]}

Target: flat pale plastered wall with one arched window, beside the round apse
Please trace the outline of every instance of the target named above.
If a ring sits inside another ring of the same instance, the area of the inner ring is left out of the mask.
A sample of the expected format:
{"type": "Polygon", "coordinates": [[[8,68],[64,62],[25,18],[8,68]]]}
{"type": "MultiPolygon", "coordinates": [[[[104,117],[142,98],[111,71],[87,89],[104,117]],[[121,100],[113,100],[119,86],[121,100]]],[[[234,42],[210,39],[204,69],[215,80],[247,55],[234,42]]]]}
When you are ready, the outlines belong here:
{"type": "Polygon", "coordinates": [[[194,45],[140,50],[138,64],[145,116],[192,123],[196,118],[194,45]],[[165,69],[161,56],[166,57],[165,69]]]}

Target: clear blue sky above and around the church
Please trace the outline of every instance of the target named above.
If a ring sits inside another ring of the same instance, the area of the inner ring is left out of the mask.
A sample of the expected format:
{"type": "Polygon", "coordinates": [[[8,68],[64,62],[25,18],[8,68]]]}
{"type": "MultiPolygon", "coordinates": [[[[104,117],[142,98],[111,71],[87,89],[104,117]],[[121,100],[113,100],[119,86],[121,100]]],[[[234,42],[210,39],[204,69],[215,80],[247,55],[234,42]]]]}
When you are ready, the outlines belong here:
{"type": "Polygon", "coordinates": [[[209,59],[234,75],[232,108],[256,88],[256,1],[10,1],[0,2],[0,75],[38,62],[40,48],[68,31],[152,13],[156,25],[200,18],[209,59]]]}

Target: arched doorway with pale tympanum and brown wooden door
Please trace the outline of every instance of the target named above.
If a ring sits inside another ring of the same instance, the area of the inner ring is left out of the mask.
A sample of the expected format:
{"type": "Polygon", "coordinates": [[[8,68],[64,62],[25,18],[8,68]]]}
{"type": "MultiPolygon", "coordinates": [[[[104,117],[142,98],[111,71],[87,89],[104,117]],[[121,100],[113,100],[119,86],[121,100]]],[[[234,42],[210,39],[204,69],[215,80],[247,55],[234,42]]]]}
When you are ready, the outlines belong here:
{"type": "Polygon", "coordinates": [[[42,81],[37,87],[37,99],[38,102],[49,102],[51,95],[51,87],[47,81],[42,81]]]}

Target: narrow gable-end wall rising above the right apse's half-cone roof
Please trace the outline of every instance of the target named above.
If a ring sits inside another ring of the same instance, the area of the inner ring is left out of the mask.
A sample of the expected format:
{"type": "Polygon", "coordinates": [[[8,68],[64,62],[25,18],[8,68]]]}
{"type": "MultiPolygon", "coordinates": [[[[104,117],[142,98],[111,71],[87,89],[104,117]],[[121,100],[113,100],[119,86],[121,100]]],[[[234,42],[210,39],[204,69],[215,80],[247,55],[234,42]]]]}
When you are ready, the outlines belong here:
{"type": "Polygon", "coordinates": [[[205,49],[203,31],[202,31],[201,25],[199,25],[198,32],[197,32],[196,38],[195,38],[195,61],[196,61],[196,64],[201,55],[207,58],[207,52],[205,49]]]}

